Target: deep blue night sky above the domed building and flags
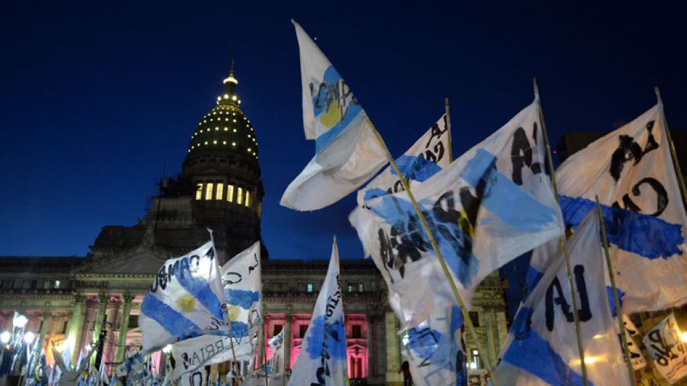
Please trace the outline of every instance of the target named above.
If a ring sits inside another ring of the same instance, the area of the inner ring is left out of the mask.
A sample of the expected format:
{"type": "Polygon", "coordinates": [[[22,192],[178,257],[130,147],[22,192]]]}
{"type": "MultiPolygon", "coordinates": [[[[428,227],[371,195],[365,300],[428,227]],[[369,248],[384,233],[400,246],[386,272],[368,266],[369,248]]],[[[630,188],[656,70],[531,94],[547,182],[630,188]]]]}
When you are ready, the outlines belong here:
{"type": "Polygon", "coordinates": [[[104,225],[134,225],[155,182],[180,172],[235,55],[260,143],[262,234],[272,258],[362,257],[353,195],[279,206],[313,156],[301,122],[294,17],[400,155],[451,101],[461,154],[532,101],[553,143],[609,130],[656,103],[687,126],[684,11],[658,1],[4,1],[0,6],[0,255],[79,255],[104,225]]]}

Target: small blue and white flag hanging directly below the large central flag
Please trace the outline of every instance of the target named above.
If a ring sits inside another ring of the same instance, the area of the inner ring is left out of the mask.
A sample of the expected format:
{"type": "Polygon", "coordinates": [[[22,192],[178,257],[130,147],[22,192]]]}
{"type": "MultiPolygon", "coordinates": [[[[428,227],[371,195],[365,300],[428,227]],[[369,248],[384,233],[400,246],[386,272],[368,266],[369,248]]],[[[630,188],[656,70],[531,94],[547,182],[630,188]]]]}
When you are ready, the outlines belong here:
{"type": "Polygon", "coordinates": [[[461,355],[460,308],[436,310],[418,327],[403,337],[404,355],[408,357],[413,383],[416,385],[461,386],[466,374],[461,355]]]}

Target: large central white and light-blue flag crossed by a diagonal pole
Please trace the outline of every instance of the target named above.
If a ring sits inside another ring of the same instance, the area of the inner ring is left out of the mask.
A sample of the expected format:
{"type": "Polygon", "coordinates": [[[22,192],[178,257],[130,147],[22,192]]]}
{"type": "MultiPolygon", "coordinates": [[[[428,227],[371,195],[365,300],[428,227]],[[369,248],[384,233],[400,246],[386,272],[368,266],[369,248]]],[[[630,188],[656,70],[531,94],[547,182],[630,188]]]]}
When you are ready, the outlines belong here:
{"type": "MultiPolygon", "coordinates": [[[[461,296],[540,244],[562,234],[562,220],[544,173],[539,108],[533,102],[504,127],[427,181],[413,186],[461,296]]],[[[415,327],[455,297],[406,192],[374,198],[349,220],[398,293],[397,314],[415,327]]]]}

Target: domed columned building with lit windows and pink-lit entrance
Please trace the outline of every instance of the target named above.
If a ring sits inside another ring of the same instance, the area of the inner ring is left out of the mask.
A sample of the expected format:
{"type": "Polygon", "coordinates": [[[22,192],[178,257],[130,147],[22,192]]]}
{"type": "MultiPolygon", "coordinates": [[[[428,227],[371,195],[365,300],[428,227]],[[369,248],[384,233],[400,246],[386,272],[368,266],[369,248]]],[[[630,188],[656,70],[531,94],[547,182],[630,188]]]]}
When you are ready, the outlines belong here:
{"type": "MultiPolygon", "coordinates": [[[[182,172],[165,178],[145,216],[131,227],[107,225],[86,257],[0,257],[0,330],[12,330],[15,311],[29,317],[26,330],[42,344],[71,353],[72,363],[106,331],[103,361],[108,368],[136,351],[141,339],[141,302],[161,264],[198,248],[213,230],[220,262],[260,241],[264,190],[258,139],[236,93],[233,65],[216,106],[191,134],[182,172]]],[[[285,332],[285,363],[299,355],[328,260],[269,259],[262,247],[264,339],[285,332]]],[[[370,260],[342,259],[349,376],[369,385],[398,383],[400,325],[387,301],[387,288],[370,260]]],[[[505,283],[492,275],[473,300],[471,319],[482,346],[466,338],[475,371],[492,361],[507,334],[505,283]]],[[[271,349],[265,355],[271,357],[271,349]]],[[[53,363],[46,350],[47,361],[53,363]]],[[[262,353],[261,353],[262,354],[262,353]]],[[[164,355],[154,366],[164,369],[164,355]]],[[[212,371],[225,371],[214,366],[212,371]]]]}

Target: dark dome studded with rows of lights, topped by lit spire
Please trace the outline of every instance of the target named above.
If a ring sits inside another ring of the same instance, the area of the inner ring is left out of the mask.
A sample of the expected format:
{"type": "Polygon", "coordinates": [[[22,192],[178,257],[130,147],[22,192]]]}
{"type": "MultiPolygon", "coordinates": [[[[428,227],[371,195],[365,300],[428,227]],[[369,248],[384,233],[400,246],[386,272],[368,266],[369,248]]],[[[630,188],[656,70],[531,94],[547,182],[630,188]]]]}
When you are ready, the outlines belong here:
{"type": "Polygon", "coordinates": [[[239,108],[241,99],[235,92],[238,83],[232,63],[229,77],[224,79],[224,94],[217,97],[217,106],[205,114],[191,135],[187,162],[199,156],[228,153],[257,161],[258,140],[251,121],[239,108]]]}

